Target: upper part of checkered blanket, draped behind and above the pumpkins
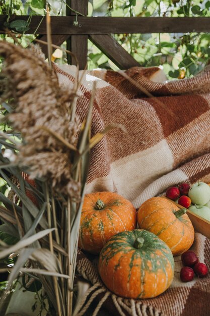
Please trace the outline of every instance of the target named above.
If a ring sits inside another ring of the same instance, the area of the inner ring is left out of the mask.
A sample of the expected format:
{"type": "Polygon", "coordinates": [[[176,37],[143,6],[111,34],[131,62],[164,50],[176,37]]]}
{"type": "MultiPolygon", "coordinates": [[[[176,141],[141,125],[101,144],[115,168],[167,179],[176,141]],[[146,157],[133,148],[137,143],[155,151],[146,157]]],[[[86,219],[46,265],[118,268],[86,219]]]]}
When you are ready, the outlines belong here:
{"type": "MultiPolygon", "coordinates": [[[[71,87],[75,67],[55,70],[60,84],[71,87]]],[[[137,208],[170,185],[210,182],[210,68],[168,83],[155,82],[162,79],[159,68],[126,73],[156,97],[146,97],[113,71],[89,72],[80,87],[77,113],[82,121],[97,80],[92,134],[110,123],[126,128],[113,129],[92,150],[87,192],[116,191],[137,208]]]]}

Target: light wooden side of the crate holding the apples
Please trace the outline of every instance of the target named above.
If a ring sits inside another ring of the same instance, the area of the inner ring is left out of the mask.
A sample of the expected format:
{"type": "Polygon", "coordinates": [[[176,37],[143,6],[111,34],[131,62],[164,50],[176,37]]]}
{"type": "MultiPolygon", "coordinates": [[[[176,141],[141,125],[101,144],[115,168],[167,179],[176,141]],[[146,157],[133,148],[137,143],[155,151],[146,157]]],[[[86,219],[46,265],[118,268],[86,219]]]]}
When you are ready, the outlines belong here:
{"type": "MultiPolygon", "coordinates": [[[[170,200],[166,196],[162,196],[172,202],[173,204],[177,205],[179,208],[183,208],[182,205],[170,200]]],[[[194,227],[194,230],[198,233],[201,233],[202,235],[206,236],[207,238],[210,238],[210,222],[203,219],[202,217],[194,214],[191,212],[191,210],[187,210],[187,215],[190,218],[190,221],[192,222],[192,225],[194,227]]]]}

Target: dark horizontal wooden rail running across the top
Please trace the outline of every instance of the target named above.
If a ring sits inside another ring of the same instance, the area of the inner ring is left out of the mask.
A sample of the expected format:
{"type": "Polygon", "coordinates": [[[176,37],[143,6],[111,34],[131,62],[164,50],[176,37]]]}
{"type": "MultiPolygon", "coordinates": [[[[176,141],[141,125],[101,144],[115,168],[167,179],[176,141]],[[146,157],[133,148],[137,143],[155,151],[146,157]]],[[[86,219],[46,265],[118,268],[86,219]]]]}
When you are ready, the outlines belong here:
{"type": "MultiPolygon", "coordinates": [[[[27,20],[28,16],[13,16],[12,20],[27,20]]],[[[28,34],[33,34],[42,17],[32,16],[28,34]]],[[[0,33],[4,30],[4,22],[7,16],[0,15],[0,33]]],[[[110,33],[186,33],[186,32],[210,32],[210,18],[160,18],[160,17],[78,17],[78,26],[74,26],[75,17],[51,17],[53,35],[87,35],[110,33]]],[[[46,34],[46,22],[43,19],[37,34],[46,34]]]]}

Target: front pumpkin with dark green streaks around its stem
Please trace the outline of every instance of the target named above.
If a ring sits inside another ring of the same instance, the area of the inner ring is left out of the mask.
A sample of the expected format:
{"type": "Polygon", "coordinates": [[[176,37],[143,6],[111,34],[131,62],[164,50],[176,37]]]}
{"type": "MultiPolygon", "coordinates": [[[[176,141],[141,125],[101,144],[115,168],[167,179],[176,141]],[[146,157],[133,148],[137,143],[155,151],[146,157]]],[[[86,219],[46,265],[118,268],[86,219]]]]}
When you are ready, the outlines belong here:
{"type": "Polygon", "coordinates": [[[170,248],[156,235],[135,229],[113,236],[103,247],[99,274],[117,295],[155,297],[173,281],[174,258],[170,248]]]}

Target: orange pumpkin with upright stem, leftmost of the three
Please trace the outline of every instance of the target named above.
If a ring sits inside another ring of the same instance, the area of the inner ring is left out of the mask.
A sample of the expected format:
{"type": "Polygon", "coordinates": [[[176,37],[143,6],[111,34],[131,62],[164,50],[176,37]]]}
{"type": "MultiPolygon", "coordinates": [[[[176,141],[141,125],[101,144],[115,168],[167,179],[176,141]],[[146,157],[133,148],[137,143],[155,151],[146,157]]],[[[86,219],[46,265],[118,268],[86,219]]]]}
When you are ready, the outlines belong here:
{"type": "Polygon", "coordinates": [[[81,213],[79,247],[98,254],[113,235],[136,228],[136,221],[134,206],[119,194],[86,194],[81,213]]]}

